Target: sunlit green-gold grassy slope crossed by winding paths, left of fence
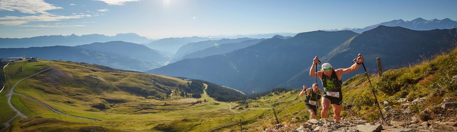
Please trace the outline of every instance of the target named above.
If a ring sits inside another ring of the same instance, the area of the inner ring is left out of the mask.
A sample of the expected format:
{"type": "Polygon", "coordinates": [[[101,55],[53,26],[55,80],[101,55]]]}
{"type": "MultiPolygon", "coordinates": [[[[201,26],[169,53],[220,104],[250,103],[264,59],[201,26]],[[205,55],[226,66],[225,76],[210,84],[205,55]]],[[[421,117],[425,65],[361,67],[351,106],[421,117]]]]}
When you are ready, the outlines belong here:
{"type": "MultiPolygon", "coordinates": [[[[21,78],[51,67],[49,63],[53,64],[53,68],[22,80],[14,88],[14,92],[36,99],[59,112],[100,121],[58,114],[34,100],[13,94],[12,105],[29,118],[16,117],[11,122],[13,125],[1,132],[47,129],[82,131],[87,130],[85,128],[97,132],[161,132],[167,129],[163,126],[167,122],[190,122],[171,127],[186,128],[180,132],[198,132],[233,122],[234,117],[261,111],[253,109],[237,114],[228,109],[228,104],[239,108],[240,103],[213,102],[212,97],[202,95],[207,84],[198,81],[188,82],[164,75],[128,72],[97,64],[39,59],[38,62],[23,61],[6,66],[6,89],[0,93],[0,104],[7,107],[0,108],[1,128],[6,127],[4,123],[16,115],[16,112],[8,107],[5,98],[10,88],[21,78]],[[20,68],[22,70],[18,70],[20,68]],[[200,88],[197,88],[198,86],[200,88]],[[192,98],[195,94],[201,98],[192,98]],[[43,118],[33,118],[36,116],[43,118]]],[[[236,96],[244,97],[233,89],[216,86],[217,88],[211,91],[212,94],[236,93],[236,96]],[[227,90],[230,92],[220,93],[227,90]]]]}

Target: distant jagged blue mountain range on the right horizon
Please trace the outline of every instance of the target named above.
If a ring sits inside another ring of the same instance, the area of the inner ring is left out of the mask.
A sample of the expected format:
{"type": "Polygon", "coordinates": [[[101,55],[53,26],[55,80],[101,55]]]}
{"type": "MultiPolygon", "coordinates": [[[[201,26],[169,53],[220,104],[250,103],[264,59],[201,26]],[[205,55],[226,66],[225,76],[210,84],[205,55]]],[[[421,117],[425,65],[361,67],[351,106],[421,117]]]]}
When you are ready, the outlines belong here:
{"type": "MultiPolygon", "coordinates": [[[[404,21],[404,20],[392,20],[388,22],[383,22],[380,24],[374,24],[371,26],[367,26],[365,28],[359,29],[359,28],[344,28],[341,30],[350,30],[356,33],[362,33],[367,30],[374,29],[380,25],[383,26],[389,26],[389,27],[395,27],[395,26],[400,26],[404,27],[407,29],[413,29],[413,30],[431,30],[431,29],[452,29],[452,28],[457,28],[457,20],[453,21],[451,19],[443,19],[443,20],[438,20],[438,19],[432,19],[432,20],[424,20],[422,18],[417,18],[411,21],[404,21]]],[[[330,29],[330,30],[324,30],[324,31],[339,31],[338,29],[330,29]]]]}

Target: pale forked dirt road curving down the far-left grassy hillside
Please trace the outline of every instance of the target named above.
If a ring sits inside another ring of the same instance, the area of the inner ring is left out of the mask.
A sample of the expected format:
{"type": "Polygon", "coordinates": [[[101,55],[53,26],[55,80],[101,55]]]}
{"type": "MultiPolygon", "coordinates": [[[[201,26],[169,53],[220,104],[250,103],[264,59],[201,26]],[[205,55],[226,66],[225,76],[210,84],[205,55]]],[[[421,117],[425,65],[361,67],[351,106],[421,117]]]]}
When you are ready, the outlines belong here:
{"type": "MultiPolygon", "coordinates": [[[[47,69],[45,69],[45,70],[43,70],[43,71],[40,71],[40,72],[38,72],[38,73],[42,73],[42,72],[44,72],[44,71],[46,71],[46,70],[51,69],[51,68],[54,67],[54,64],[52,64],[52,63],[49,63],[49,64],[51,64],[51,67],[50,67],[50,68],[47,68],[47,69]]],[[[35,74],[33,74],[32,76],[29,76],[29,77],[27,77],[27,78],[31,78],[31,77],[35,76],[36,74],[38,74],[38,73],[35,73],[35,74]]],[[[30,97],[25,96],[25,95],[22,95],[22,94],[20,94],[20,93],[14,92],[13,89],[16,87],[16,85],[17,85],[19,82],[21,82],[22,80],[25,80],[25,79],[27,79],[27,78],[23,78],[23,79],[17,81],[17,82],[14,84],[14,86],[10,89],[10,93],[6,94],[6,97],[8,97],[8,105],[11,107],[11,109],[13,109],[13,110],[16,112],[16,116],[12,117],[10,120],[8,120],[8,122],[5,123],[6,126],[9,126],[9,125],[11,124],[11,123],[10,123],[11,120],[13,120],[13,119],[14,119],[15,117],[17,117],[17,116],[21,116],[22,118],[27,118],[26,115],[22,114],[20,111],[18,111],[16,108],[14,108],[13,105],[11,104],[11,95],[13,95],[13,94],[17,94],[17,95],[20,95],[20,96],[22,96],[22,97],[31,99],[31,100],[33,100],[33,101],[35,101],[35,102],[37,102],[37,103],[40,103],[40,104],[42,104],[43,106],[45,106],[46,108],[49,108],[50,110],[52,110],[53,112],[56,112],[56,113],[58,113],[58,114],[62,114],[62,115],[69,116],[69,117],[76,117],[76,118],[88,119],[88,120],[93,120],[93,121],[100,121],[100,120],[96,120],[96,119],[91,119],[91,118],[86,118],[86,117],[78,117],[78,116],[73,116],[73,115],[65,114],[65,113],[63,113],[63,112],[59,112],[58,110],[56,110],[56,109],[54,109],[54,108],[48,106],[47,104],[45,104],[45,103],[43,103],[43,102],[41,102],[41,101],[38,101],[38,100],[36,100],[36,99],[30,98],[30,97]]]]}

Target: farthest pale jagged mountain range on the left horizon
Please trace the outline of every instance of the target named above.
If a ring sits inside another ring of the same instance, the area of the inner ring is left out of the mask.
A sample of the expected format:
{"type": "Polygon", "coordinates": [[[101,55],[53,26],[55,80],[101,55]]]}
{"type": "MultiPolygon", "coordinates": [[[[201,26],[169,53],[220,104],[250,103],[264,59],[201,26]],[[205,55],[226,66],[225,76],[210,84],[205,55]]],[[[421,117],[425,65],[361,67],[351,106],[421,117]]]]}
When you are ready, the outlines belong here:
{"type": "Polygon", "coordinates": [[[144,43],[149,41],[146,37],[141,37],[135,33],[117,34],[116,36],[106,36],[103,34],[89,35],[51,35],[37,36],[32,38],[10,39],[0,38],[0,48],[28,48],[44,46],[76,46],[81,44],[91,44],[95,42],[124,41],[131,43],[144,43]]]}

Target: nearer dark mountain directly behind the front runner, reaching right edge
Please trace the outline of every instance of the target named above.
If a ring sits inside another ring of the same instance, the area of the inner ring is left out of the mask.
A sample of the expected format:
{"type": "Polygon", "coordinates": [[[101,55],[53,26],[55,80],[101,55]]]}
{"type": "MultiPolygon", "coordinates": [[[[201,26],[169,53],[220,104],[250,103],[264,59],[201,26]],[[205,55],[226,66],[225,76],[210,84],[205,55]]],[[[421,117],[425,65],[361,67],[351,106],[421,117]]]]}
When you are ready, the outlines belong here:
{"type": "MultiPolygon", "coordinates": [[[[370,73],[376,73],[377,57],[381,58],[384,71],[402,68],[451,49],[456,44],[456,40],[457,29],[416,31],[402,27],[379,26],[348,39],[320,60],[322,63],[330,63],[334,68],[348,68],[357,54],[361,53],[365,58],[367,70],[370,73]]],[[[302,72],[279,87],[297,88],[303,83],[314,82],[314,78],[309,77],[312,58],[307,59],[307,62],[309,63],[302,72]]],[[[360,72],[363,72],[363,69],[359,68],[356,72],[345,74],[342,79],[345,81],[360,72]]]]}

